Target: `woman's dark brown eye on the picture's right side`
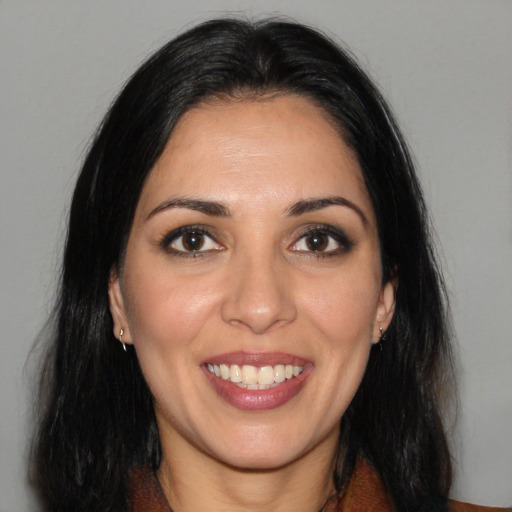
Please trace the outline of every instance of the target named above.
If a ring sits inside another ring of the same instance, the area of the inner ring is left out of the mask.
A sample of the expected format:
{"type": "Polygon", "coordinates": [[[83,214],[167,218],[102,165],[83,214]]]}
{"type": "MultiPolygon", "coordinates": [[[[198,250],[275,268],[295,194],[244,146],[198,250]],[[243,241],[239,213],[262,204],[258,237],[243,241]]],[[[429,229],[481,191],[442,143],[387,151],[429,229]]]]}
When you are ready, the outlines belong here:
{"type": "Polygon", "coordinates": [[[292,251],[335,256],[348,252],[353,243],[345,233],[332,226],[315,226],[302,233],[292,244],[292,251]]]}

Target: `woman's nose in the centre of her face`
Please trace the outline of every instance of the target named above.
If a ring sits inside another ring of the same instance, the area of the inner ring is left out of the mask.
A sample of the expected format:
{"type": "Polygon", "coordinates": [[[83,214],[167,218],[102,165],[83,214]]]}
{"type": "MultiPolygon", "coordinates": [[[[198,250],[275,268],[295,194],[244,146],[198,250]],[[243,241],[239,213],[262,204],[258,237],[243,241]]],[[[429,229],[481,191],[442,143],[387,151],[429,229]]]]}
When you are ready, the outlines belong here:
{"type": "Polygon", "coordinates": [[[227,277],[221,314],[225,322],[264,334],[296,318],[286,263],[271,250],[237,258],[227,277]]]}

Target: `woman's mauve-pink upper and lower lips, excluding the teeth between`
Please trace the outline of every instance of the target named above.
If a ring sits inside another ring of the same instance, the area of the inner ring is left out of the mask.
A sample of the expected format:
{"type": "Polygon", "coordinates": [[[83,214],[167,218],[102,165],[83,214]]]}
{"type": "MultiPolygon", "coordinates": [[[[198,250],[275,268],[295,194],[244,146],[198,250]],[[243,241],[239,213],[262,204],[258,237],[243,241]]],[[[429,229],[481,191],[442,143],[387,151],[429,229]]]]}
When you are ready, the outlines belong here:
{"type": "Polygon", "coordinates": [[[313,372],[313,364],[303,358],[278,352],[231,352],[209,358],[201,366],[204,375],[216,393],[230,405],[245,411],[264,411],[281,407],[297,396],[313,372]],[[207,364],[251,364],[253,366],[274,366],[293,364],[304,370],[293,379],[286,380],[269,389],[244,389],[229,380],[216,377],[208,371],[207,364]]]}

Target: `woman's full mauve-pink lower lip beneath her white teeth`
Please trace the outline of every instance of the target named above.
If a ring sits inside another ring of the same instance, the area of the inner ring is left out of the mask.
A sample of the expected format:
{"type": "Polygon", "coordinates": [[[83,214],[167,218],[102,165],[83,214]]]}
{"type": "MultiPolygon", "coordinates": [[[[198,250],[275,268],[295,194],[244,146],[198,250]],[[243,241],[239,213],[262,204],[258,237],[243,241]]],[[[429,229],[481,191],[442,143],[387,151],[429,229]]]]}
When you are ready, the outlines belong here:
{"type": "Polygon", "coordinates": [[[203,367],[203,371],[217,394],[229,404],[247,411],[264,411],[280,407],[298,395],[313,372],[308,364],[300,375],[268,389],[244,389],[229,380],[216,377],[203,367]]]}

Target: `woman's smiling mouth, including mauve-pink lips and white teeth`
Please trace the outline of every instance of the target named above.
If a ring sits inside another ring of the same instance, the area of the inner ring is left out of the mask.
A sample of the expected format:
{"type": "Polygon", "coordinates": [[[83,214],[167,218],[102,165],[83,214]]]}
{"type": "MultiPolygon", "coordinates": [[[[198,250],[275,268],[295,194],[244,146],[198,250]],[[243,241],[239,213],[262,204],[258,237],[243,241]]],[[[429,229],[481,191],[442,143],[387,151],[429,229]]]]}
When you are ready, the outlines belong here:
{"type": "Polygon", "coordinates": [[[261,411],[280,407],[297,396],[313,364],[288,354],[231,353],[202,365],[217,394],[230,405],[261,411]]]}

